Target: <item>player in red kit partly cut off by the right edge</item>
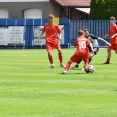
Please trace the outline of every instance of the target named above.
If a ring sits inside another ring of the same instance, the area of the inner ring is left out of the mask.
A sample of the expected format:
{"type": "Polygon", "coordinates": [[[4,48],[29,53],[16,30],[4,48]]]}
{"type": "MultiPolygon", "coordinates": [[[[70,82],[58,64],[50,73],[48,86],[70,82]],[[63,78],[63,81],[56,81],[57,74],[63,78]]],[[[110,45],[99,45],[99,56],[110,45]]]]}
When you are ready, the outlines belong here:
{"type": "Polygon", "coordinates": [[[115,24],[115,17],[110,17],[110,28],[108,33],[104,36],[105,38],[110,36],[110,44],[111,46],[108,46],[107,49],[107,60],[104,64],[110,64],[110,58],[111,58],[111,50],[115,50],[115,53],[117,54],[117,25],[115,24]]]}

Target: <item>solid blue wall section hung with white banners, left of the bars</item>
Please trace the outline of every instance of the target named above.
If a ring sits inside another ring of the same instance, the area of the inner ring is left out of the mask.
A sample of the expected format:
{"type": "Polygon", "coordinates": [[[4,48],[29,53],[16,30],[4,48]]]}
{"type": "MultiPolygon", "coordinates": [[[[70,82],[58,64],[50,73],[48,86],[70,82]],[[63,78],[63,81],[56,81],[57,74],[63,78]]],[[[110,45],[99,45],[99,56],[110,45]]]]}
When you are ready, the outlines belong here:
{"type": "MultiPolygon", "coordinates": [[[[38,41],[43,25],[48,23],[48,18],[43,19],[0,19],[0,47],[1,48],[37,48],[43,45],[45,48],[45,33],[43,40],[38,41]],[[42,22],[42,23],[41,23],[42,22]]],[[[59,25],[62,30],[62,47],[68,47],[69,43],[69,21],[67,18],[60,18],[59,25]]],[[[42,46],[41,46],[42,48],[42,46]]]]}

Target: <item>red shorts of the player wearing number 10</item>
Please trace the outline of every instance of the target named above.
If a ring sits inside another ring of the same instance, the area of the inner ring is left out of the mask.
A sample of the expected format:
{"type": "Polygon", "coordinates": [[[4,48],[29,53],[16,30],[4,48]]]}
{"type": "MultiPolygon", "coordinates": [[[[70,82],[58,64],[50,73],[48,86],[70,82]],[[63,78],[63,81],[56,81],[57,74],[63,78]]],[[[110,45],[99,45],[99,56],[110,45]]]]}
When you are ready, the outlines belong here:
{"type": "Polygon", "coordinates": [[[75,54],[70,58],[70,60],[71,60],[72,62],[79,62],[81,59],[83,59],[83,61],[88,61],[89,55],[80,55],[80,54],[75,53],[75,54]]]}

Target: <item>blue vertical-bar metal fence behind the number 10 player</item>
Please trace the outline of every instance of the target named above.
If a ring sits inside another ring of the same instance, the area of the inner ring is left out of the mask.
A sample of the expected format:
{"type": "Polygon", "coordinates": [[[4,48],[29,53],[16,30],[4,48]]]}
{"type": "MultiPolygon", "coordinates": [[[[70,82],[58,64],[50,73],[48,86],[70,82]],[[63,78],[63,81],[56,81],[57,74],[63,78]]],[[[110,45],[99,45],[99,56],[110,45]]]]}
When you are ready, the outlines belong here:
{"type": "MultiPolygon", "coordinates": [[[[90,34],[94,34],[98,37],[104,38],[107,34],[110,26],[109,20],[72,20],[70,21],[70,39],[71,46],[73,46],[74,40],[78,36],[78,30],[88,29],[90,34]]],[[[110,41],[109,37],[106,39],[110,41]]],[[[100,46],[106,46],[105,43],[99,41],[100,46]]]]}

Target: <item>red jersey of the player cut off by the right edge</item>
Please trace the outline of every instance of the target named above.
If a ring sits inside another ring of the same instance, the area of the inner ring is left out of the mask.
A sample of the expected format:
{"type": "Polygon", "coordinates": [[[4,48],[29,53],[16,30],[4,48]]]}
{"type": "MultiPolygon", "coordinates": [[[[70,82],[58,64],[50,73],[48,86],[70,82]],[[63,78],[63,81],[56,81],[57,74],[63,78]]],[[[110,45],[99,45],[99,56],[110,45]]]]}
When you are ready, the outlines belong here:
{"type": "MultiPolygon", "coordinates": [[[[117,33],[117,25],[116,24],[111,25],[110,28],[109,28],[108,34],[110,35],[110,37],[112,37],[116,33],[117,33]]],[[[117,36],[115,36],[114,38],[112,38],[110,40],[110,43],[111,44],[117,44],[117,36]]]]}

